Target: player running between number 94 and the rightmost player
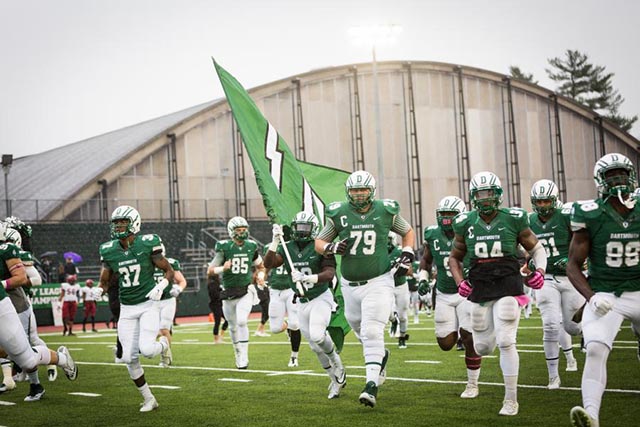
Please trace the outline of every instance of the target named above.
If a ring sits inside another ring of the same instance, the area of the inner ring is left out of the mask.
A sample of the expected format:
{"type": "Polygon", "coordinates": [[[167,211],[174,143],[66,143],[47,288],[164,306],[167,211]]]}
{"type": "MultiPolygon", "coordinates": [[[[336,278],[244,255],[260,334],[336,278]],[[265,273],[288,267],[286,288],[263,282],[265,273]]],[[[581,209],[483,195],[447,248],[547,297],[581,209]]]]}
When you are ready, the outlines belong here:
{"type": "Polygon", "coordinates": [[[531,231],[547,254],[544,286],[535,293],[542,317],[542,344],[549,372],[548,388],[553,390],[560,388],[560,346],[567,359],[566,370],[578,370],[569,334],[579,335],[582,332],[581,325],[574,322],[572,317],[584,305],[585,300],[567,279],[566,264],[571,240],[570,209],[558,208],[558,187],[553,181],[541,179],[533,184],[531,207],[531,231]]]}

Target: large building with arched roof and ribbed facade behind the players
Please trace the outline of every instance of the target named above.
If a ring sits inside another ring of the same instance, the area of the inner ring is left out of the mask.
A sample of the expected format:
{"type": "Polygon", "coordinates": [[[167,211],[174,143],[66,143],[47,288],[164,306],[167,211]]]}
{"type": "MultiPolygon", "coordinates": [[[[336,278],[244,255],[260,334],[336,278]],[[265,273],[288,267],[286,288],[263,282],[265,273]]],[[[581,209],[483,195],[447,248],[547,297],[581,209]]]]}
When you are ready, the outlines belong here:
{"type": "MultiPolygon", "coordinates": [[[[603,154],[639,163],[639,141],[593,111],[540,86],[465,66],[352,64],[248,92],[298,159],[371,172],[378,197],[400,202],[420,236],[416,244],[435,222],[442,197],[468,202],[476,172],[500,177],[505,205],[530,209],[529,190],[539,179],[554,180],[563,201],[590,199],[593,165],[603,154]]],[[[95,242],[108,240],[109,215],[123,204],[136,207],[143,231],[169,240],[169,255],[192,262],[199,276],[228,218],[245,216],[254,236],[270,239],[225,99],[14,159],[7,178],[9,200],[0,212],[8,207],[34,224],[36,255],[86,243],[87,263],[97,266],[95,242]]]]}

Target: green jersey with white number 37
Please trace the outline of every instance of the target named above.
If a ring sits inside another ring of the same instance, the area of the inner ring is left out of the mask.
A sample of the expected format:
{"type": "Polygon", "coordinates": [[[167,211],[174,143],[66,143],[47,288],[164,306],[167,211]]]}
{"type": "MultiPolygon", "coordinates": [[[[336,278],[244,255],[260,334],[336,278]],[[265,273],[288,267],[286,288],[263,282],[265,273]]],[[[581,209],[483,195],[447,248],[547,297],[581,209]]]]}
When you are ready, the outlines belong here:
{"type": "Polygon", "coordinates": [[[156,285],[156,269],[151,254],[162,251],[162,240],[157,234],[137,235],[125,250],[119,240],[100,245],[100,260],[120,275],[118,289],[120,303],[136,305],[147,301],[146,295],[156,285]]]}

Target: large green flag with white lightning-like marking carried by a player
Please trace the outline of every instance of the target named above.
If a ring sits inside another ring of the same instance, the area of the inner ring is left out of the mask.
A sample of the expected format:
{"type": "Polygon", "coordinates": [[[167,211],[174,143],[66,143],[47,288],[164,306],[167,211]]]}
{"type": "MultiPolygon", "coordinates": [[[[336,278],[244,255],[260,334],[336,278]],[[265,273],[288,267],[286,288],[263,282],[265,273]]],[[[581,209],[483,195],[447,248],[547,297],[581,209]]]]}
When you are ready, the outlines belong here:
{"type": "MultiPolygon", "coordinates": [[[[242,85],[215,60],[213,64],[249,154],[271,222],[288,224],[295,214],[307,211],[314,212],[324,224],[325,206],[345,198],[344,184],[349,172],[298,161],[242,85]]],[[[336,286],[339,310],[331,318],[329,333],[341,350],[350,328],[344,318],[339,289],[336,286]]]]}

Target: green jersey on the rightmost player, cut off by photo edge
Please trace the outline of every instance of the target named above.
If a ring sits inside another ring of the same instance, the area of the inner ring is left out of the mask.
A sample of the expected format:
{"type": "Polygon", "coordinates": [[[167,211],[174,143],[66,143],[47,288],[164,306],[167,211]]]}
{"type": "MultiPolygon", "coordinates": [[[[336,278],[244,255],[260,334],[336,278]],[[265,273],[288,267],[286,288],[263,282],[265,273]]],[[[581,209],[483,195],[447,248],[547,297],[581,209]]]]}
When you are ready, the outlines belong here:
{"type": "Polygon", "coordinates": [[[591,240],[589,285],[596,292],[640,291],[640,204],[626,218],[602,199],[573,204],[571,228],[591,240]]]}

